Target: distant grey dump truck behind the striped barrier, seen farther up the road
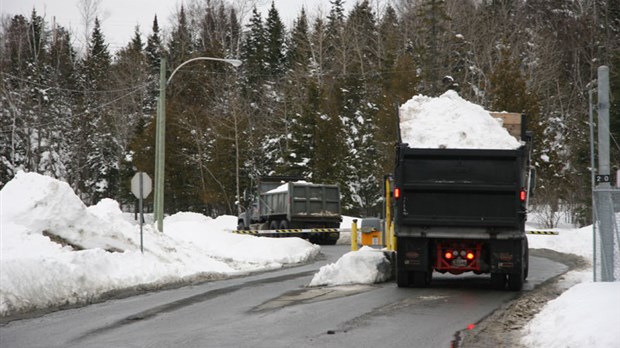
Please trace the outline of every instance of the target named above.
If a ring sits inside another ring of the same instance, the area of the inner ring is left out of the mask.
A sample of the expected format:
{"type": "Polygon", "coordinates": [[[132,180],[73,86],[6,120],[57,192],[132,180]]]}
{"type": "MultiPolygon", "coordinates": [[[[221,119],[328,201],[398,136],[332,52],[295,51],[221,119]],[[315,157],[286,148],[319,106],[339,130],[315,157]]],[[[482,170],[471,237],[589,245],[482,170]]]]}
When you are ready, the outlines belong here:
{"type": "Polygon", "coordinates": [[[340,237],[341,221],[337,185],[269,176],[257,180],[257,192],[239,215],[237,229],[270,231],[270,236],[297,236],[333,245],[340,237]]]}

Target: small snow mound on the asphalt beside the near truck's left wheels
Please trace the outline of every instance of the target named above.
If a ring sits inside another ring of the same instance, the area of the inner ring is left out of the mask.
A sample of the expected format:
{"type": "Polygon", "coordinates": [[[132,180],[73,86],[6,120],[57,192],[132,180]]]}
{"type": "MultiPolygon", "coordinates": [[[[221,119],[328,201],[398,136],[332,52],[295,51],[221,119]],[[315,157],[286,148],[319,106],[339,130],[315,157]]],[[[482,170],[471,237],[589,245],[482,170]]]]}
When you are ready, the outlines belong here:
{"type": "Polygon", "coordinates": [[[390,262],[381,250],[367,246],[344,254],[335,263],[321,267],[309,286],[374,284],[388,280],[390,262]]]}

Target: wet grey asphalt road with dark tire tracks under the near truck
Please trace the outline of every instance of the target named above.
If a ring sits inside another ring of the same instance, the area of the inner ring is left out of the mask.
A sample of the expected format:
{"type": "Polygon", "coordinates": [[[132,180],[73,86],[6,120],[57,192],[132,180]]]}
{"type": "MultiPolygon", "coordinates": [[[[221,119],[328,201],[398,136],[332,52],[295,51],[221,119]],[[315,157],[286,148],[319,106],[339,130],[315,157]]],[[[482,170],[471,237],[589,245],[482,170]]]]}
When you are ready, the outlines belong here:
{"type": "MultiPolygon", "coordinates": [[[[522,293],[485,276],[433,275],[431,287],[387,282],[307,288],[348,246],[294,268],[110,300],[0,327],[0,347],[450,347],[457,331],[522,293]]],[[[564,272],[530,257],[523,292],[564,272]]]]}

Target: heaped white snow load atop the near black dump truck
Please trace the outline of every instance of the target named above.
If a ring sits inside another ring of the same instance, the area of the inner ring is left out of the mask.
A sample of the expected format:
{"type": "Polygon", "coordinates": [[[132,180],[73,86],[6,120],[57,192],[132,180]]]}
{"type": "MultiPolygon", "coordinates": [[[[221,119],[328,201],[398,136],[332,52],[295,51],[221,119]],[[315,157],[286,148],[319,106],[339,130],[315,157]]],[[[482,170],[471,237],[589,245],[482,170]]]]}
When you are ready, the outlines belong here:
{"type": "Polygon", "coordinates": [[[417,95],[400,107],[400,134],[410,148],[516,149],[521,142],[480,105],[447,91],[417,95]]]}

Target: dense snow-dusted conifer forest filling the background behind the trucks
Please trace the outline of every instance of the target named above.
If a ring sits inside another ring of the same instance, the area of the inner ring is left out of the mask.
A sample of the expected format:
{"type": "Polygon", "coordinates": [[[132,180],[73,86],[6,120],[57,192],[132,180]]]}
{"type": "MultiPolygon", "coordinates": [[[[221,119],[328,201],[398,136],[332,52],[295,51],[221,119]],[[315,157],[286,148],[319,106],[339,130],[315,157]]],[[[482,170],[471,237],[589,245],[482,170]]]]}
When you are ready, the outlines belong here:
{"type": "Polygon", "coordinates": [[[525,113],[534,203],[590,221],[588,99],[601,65],[611,71],[612,168],[620,164],[620,1],[330,4],[286,27],[273,4],[242,23],[233,2],[186,1],[171,27],[154,17],[115,52],[98,18],[79,52],[76,34],[42,9],[5,15],[0,188],[20,170],[38,172],[87,205],[113,198],[133,209],[131,177],[154,171],[161,57],[169,77],[202,56],[243,64],[192,62],[167,86],[166,213],[234,215],[257,177],[294,175],[338,184],[346,214],[375,215],[397,107],[450,88],[488,110],[525,113]]]}

